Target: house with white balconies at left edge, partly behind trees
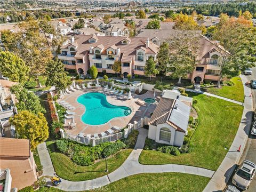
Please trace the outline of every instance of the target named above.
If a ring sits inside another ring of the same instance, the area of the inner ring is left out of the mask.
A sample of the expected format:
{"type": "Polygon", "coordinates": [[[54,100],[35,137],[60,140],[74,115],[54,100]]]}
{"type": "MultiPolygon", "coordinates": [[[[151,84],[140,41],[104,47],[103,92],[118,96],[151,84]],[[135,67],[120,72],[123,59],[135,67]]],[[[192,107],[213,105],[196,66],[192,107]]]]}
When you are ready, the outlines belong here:
{"type": "Polygon", "coordinates": [[[9,119],[17,113],[14,107],[15,95],[9,88],[17,83],[0,79],[0,138],[14,137],[15,127],[10,124],[9,119]]]}

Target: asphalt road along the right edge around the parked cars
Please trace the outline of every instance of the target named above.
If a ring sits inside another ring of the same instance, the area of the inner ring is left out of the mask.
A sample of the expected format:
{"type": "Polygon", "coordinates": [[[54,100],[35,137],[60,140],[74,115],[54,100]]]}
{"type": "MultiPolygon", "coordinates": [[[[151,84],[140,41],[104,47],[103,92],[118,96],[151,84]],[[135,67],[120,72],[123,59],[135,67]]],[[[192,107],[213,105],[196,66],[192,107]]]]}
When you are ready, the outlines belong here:
{"type": "MultiPolygon", "coordinates": [[[[251,81],[252,79],[256,80],[256,67],[254,67],[252,69],[252,75],[247,75],[246,77],[247,77],[248,81],[251,81]]],[[[245,95],[245,96],[249,96],[249,95],[245,95]]],[[[256,89],[252,90],[252,96],[253,96],[253,110],[254,110],[256,108],[256,89]]],[[[253,125],[253,123],[252,123],[252,125],[253,125]]],[[[251,130],[250,130],[250,133],[251,133],[251,130]]],[[[241,164],[245,159],[256,164],[256,136],[253,136],[251,134],[249,134],[247,144],[243,151],[243,154],[242,154],[239,164],[241,164]]],[[[238,165],[237,165],[237,167],[238,167],[238,165]]],[[[234,173],[233,173],[233,175],[234,175],[234,173]]],[[[231,180],[233,178],[233,175],[230,178],[230,180],[228,181],[228,185],[232,185],[231,180]]],[[[246,191],[248,191],[248,192],[256,191],[256,176],[254,177],[254,180],[252,180],[249,189],[247,189],[246,191]]]]}

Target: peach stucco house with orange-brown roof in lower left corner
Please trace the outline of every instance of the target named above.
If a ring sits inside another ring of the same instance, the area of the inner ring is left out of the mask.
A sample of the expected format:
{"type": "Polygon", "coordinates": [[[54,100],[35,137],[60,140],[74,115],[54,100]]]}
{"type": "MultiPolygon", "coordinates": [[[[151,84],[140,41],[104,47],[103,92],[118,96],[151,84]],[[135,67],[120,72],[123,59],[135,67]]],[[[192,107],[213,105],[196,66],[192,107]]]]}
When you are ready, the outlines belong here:
{"type": "Polygon", "coordinates": [[[11,188],[22,189],[37,180],[28,139],[0,138],[0,170],[5,169],[11,172],[11,188]]]}

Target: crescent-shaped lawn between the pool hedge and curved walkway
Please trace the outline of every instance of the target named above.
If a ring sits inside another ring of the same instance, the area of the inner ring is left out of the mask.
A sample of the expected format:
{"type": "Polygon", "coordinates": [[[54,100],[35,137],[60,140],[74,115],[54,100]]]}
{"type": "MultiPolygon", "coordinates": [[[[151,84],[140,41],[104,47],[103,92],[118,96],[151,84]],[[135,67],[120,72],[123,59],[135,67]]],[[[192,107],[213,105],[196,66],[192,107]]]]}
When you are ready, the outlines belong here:
{"type": "MultiPolygon", "coordinates": [[[[73,163],[66,155],[58,153],[55,149],[54,141],[47,141],[46,145],[49,149],[55,172],[63,179],[70,181],[84,181],[99,178],[107,174],[104,159],[90,166],[79,166],[73,163]]],[[[121,166],[125,159],[130,155],[131,151],[132,149],[125,149],[119,151],[113,157],[107,158],[109,173],[121,166]]]]}

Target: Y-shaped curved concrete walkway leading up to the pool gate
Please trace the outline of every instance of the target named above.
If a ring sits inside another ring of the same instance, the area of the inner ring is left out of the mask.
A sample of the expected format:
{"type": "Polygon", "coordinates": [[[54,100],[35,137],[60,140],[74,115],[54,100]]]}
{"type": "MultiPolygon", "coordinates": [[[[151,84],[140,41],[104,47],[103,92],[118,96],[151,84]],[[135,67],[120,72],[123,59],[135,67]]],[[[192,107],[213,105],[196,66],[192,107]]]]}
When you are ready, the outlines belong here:
{"type": "MultiPolygon", "coordinates": [[[[109,173],[103,177],[87,180],[87,181],[68,181],[61,179],[62,182],[57,187],[65,191],[83,191],[90,190],[102,186],[106,186],[111,182],[129,177],[130,175],[139,173],[164,173],[164,172],[179,172],[201,175],[203,177],[211,178],[214,171],[203,169],[200,167],[166,164],[166,165],[142,165],[139,163],[139,156],[144,147],[145,139],[148,136],[148,130],[139,129],[139,135],[137,143],[126,159],[126,161],[118,167],[114,172],[109,173]]],[[[51,158],[46,148],[45,143],[41,143],[38,146],[38,154],[43,165],[43,175],[54,175],[54,169],[52,166],[51,158]]]]}

